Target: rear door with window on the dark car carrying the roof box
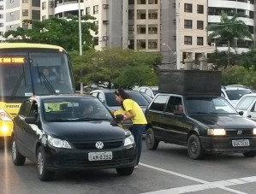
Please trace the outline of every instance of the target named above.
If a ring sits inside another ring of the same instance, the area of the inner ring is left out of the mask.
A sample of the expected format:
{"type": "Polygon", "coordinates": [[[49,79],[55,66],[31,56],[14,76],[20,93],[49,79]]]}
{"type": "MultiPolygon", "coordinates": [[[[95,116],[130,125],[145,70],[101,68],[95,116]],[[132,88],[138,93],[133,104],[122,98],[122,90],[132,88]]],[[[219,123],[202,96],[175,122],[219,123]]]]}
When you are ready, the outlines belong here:
{"type": "Polygon", "coordinates": [[[152,125],[155,136],[161,139],[166,138],[164,135],[165,132],[162,123],[162,116],[164,114],[164,108],[168,98],[169,96],[164,94],[155,97],[146,113],[146,120],[150,125],[152,125]]]}

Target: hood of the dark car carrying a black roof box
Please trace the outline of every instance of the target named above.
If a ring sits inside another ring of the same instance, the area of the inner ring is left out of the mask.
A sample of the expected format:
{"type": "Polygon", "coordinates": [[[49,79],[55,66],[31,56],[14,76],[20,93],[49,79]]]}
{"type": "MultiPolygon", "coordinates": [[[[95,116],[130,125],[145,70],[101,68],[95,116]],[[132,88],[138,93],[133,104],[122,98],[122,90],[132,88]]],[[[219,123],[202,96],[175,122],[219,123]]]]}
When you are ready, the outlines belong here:
{"type": "Polygon", "coordinates": [[[211,128],[248,129],[256,127],[256,123],[240,115],[193,115],[190,117],[211,128]]]}

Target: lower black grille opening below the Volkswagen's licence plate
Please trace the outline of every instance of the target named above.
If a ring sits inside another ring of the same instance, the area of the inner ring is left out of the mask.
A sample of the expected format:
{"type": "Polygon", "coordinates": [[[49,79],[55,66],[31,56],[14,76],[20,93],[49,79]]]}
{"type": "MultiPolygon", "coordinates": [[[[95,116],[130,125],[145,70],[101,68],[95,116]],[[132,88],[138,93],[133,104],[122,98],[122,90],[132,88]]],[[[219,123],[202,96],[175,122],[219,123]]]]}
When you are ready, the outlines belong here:
{"type": "Polygon", "coordinates": [[[134,161],[134,156],[114,158],[110,161],[88,161],[88,160],[74,160],[65,158],[63,162],[58,164],[59,167],[80,167],[80,168],[100,168],[100,167],[111,167],[118,166],[120,164],[126,164],[134,161]]]}

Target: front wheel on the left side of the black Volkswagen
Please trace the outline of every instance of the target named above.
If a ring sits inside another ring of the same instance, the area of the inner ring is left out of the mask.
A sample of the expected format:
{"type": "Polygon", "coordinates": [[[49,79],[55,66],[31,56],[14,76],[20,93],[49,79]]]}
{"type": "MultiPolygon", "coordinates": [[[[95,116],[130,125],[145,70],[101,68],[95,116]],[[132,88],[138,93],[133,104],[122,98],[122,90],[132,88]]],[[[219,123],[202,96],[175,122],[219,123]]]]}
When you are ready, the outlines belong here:
{"type": "Polygon", "coordinates": [[[45,161],[45,150],[42,146],[40,146],[37,151],[37,168],[40,180],[48,181],[53,179],[55,172],[47,170],[45,161]]]}

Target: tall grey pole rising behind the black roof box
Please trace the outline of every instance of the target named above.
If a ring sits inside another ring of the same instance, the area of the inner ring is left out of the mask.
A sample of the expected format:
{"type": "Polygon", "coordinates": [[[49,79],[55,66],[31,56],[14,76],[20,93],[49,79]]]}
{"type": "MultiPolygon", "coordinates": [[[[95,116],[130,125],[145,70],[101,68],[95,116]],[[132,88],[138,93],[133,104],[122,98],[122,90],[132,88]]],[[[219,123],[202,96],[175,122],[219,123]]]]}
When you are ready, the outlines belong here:
{"type": "Polygon", "coordinates": [[[181,51],[180,51],[180,4],[176,0],[176,69],[181,69],[181,51]]]}

